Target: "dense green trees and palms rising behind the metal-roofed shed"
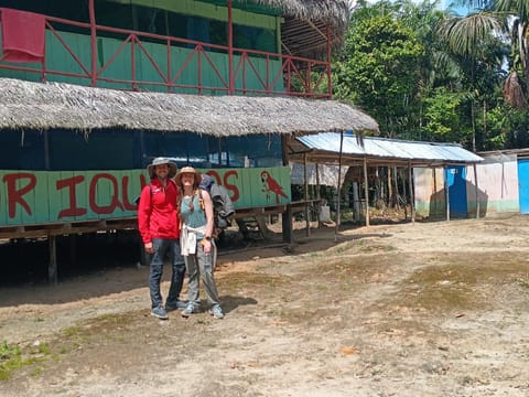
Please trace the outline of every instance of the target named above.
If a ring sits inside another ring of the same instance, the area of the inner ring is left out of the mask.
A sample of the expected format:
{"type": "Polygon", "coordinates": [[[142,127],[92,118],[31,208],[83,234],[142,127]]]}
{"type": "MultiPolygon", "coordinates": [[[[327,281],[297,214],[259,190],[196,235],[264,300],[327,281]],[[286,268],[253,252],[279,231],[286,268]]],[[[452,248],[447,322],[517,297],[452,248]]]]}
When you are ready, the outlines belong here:
{"type": "Polygon", "coordinates": [[[335,54],[335,97],[377,119],[382,136],[458,142],[469,150],[528,143],[525,0],[360,0],[335,54]]]}

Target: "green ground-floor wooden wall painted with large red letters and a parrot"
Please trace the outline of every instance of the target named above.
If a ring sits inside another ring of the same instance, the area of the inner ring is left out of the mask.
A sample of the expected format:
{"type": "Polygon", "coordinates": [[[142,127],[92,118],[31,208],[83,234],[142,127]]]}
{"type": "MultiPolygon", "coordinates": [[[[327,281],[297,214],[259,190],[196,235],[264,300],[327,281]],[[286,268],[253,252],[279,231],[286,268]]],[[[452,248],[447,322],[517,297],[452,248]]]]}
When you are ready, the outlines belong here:
{"type": "MultiPolygon", "coordinates": [[[[291,202],[288,167],[201,171],[228,190],[235,208],[291,202]],[[273,181],[283,195],[273,187],[273,181]]],[[[3,170],[0,171],[0,226],[133,217],[134,198],[147,181],[144,170],[3,170]]]]}

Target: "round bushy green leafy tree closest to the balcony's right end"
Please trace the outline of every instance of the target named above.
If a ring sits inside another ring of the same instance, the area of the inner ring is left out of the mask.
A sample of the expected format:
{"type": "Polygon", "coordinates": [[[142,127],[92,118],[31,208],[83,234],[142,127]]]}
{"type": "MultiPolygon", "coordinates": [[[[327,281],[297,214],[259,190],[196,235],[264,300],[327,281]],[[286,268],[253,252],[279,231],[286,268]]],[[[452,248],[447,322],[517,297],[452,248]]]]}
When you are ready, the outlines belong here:
{"type": "Polygon", "coordinates": [[[424,49],[413,31],[380,2],[354,13],[345,49],[335,62],[335,95],[359,105],[378,120],[381,132],[408,129],[424,49]]]}

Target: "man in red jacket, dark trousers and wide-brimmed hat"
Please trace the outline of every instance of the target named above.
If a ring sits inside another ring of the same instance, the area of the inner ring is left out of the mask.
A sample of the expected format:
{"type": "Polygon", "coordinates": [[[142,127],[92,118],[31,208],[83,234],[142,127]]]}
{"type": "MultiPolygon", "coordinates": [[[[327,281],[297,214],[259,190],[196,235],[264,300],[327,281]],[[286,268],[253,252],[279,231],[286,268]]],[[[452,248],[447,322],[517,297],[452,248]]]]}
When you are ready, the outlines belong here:
{"type": "Polygon", "coordinates": [[[168,311],[185,308],[185,302],[180,300],[185,264],[180,250],[180,218],[176,210],[179,190],[173,181],[176,164],[166,158],[155,158],[147,170],[151,182],[141,191],[138,228],[145,253],[151,258],[149,271],[151,314],[165,320],[168,311]],[[163,261],[168,254],[172,260],[173,275],[164,308],[160,282],[163,261]]]}

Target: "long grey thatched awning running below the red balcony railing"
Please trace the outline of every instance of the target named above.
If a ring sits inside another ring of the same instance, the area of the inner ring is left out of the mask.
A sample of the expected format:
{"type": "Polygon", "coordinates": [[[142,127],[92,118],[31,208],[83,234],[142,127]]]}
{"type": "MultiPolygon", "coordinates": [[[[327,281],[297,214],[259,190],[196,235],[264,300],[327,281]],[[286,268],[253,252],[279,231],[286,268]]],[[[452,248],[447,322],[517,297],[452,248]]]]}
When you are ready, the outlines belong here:
{"type": "Polygon", "coordinates": [[[333,100],[134,93],[0,78],[0,128],[98,128],[223,136],[377,131],[365,112],[333,100]]]}

